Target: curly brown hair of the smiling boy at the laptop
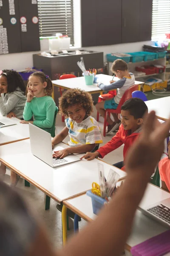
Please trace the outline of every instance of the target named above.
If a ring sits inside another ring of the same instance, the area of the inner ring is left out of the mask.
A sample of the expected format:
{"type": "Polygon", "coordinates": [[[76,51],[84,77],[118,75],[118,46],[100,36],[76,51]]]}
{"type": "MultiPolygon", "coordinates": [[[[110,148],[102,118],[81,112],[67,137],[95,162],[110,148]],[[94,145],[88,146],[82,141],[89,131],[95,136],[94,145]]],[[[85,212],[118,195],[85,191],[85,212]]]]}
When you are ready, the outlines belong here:
{"type": "Polygon", "coordinates": [[[78,88],[67,90],[59,99],[59,113],[68,116],[68,107],[80,104],[88,115],[93,112],[93,99],[90,93],[78,88]]]}

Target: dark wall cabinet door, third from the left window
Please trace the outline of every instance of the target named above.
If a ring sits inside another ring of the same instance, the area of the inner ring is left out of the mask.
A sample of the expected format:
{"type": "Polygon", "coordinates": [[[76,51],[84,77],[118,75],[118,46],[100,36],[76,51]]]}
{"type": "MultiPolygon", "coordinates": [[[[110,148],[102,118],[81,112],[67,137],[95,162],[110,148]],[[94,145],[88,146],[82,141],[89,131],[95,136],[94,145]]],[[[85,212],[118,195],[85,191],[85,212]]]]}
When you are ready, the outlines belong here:
{"type": "Polygon", "coordinates": [[[138,41],[140,41],[140,0],[122,0],[122,43],[138,41]]]}

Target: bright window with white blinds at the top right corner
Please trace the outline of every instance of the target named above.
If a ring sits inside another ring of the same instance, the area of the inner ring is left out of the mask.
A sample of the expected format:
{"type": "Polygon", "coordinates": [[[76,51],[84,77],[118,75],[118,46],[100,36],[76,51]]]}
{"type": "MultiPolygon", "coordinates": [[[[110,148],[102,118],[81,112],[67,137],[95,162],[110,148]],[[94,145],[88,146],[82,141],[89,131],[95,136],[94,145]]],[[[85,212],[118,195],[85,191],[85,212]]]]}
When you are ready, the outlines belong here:
{"type": "Polygon", "coordinates": [[[170,33],[170,0],[153,0],[152,40],[170,33]]]}

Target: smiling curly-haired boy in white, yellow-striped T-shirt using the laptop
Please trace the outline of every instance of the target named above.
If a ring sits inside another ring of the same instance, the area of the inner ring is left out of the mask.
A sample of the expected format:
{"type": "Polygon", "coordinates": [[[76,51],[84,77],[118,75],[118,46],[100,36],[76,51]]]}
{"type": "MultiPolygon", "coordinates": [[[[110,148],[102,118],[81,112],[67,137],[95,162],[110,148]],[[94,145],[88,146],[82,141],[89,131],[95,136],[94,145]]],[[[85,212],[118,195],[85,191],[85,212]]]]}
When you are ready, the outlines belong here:
{"type": "Polygon", "coordinates": [[[65,157],[73,153],[91,152],[102,143],[98,122],[91,116],[93,100],[90,93],[80,89],[71,89],[59,99],[59,111],[67,116],[65,128],[54,137],[52,146],[69,135],[69,148],[54,151],[53,157],[65,157]]]}

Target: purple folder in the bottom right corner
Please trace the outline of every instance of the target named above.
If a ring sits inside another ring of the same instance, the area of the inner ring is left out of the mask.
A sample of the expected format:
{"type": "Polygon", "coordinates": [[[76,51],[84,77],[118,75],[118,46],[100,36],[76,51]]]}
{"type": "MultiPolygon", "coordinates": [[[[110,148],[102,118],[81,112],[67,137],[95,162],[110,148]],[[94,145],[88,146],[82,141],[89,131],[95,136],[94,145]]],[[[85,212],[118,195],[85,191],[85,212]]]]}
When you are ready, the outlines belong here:
{"type": "Polygon", "coordinates": [[[133,256],[161,256],[170,252],[170,230],[154,236],[130,250],[133,256]]]}

